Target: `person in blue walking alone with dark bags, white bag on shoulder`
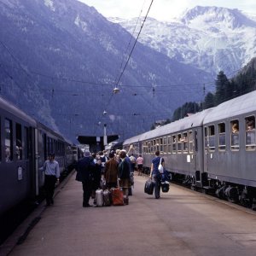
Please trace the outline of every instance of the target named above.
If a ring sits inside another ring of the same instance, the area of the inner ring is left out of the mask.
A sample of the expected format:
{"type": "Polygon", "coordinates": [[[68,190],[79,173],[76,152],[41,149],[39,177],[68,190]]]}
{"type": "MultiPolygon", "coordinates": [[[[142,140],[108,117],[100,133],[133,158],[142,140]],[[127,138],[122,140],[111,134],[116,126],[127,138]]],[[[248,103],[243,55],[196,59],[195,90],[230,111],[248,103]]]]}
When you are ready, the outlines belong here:
{"type": "Polygon", "coordinates": [[[154,182],[154,197],[156,199],[160,198],[160,172],[158,171],[158,166],[160,165],[160,160],[162,166],[164,166],[165,160],[163,158],[160,158],[160,152],[155,151],[155,157],[152,160],[151,163],[151,170],[150,170],[150,177],[152,178],[154,182]]]}

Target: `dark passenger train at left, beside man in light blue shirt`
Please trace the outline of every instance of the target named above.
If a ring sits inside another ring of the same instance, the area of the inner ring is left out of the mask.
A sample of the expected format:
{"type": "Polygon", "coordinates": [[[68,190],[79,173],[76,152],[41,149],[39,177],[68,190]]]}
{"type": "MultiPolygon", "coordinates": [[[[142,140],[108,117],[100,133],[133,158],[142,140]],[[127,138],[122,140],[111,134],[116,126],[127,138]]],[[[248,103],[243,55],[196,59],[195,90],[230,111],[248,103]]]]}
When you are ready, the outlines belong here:
{"type": "Polygon", "coordinates": [[[26,199],[35,199],[44,184],[49,152],[64,172],[77,160],[76,146],[0,97],[0,216],[26,199]]]}

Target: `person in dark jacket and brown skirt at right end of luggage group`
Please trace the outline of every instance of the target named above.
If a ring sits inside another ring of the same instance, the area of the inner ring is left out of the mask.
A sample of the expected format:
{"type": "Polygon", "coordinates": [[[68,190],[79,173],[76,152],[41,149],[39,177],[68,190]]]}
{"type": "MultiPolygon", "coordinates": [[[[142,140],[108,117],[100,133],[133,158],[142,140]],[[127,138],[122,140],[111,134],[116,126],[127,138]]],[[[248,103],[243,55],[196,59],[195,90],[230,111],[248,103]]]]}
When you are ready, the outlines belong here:
{"type": "Polygon", "coordinates": [[[129,204],[129,188],[131,188],[131,167],[129,166],[129,162],[125,160],[126,158],[126,153],[125,151],[120,152],[120,159],[121,162],[119,163],[119,186],[123,190],[124,194],[124,202],[125,204],[129,204]]]}

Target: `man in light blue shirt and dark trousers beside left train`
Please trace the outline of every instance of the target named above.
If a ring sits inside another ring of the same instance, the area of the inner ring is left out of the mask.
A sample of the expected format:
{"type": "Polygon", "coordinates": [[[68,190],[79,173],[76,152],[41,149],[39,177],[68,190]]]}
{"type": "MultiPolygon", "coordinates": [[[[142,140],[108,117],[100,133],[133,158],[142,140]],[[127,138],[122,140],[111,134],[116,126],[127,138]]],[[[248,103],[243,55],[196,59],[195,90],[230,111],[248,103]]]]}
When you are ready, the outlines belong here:
{"type": "Polygon", "coordinates": [[[46,197],[46,205],[54,204],[53,195],[55,192],[55,183],[59,182],[60,167],[59,163],[55,160],[55,154],[49,153],[48,160],[44,162],[44,189],[46,197]]]}

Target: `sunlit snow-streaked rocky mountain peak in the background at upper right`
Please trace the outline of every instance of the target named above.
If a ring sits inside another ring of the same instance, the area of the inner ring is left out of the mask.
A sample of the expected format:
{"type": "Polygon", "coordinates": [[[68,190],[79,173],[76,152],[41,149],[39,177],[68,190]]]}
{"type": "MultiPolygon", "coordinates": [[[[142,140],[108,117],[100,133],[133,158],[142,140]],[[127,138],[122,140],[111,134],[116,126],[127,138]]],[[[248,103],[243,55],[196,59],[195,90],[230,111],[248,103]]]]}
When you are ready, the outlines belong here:
{"type": "MultiPolygon", "coordinates": [[[[256,15],[238,9],[201,7],[187,10],[172,22],[148,18],[139,41],[168,55],[172,60],[190,64],[216,75],[222,70],[234,74],[256,55],[256,15]]],[[[137,19],[117,20],[133,32],[137,19]]]]}

